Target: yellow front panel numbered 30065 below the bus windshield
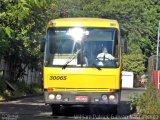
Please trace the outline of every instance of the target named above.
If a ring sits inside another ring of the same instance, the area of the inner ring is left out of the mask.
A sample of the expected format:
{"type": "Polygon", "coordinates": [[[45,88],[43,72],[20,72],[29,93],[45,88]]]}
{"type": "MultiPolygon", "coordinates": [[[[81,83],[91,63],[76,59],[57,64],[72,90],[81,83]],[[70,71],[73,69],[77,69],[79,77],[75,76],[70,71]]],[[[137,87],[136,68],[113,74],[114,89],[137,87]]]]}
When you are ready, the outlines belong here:
{"type": "Polygon", "coordinates": [[[98,70],[96,68],[44,67],[44,88],[55,88],[54,91],[107,92],[107,89],[120,89],[119,80],[120,68],[98,70]],[[67,76],[67,79],[50,80],[50,76],[67,76]]]}

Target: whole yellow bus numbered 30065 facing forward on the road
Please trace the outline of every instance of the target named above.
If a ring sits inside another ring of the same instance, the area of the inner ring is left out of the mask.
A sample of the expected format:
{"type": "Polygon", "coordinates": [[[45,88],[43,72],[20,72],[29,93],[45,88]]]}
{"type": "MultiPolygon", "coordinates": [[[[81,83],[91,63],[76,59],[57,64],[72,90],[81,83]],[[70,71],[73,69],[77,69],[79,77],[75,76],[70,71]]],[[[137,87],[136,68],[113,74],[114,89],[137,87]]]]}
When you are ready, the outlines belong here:
{"type": "Polygon", "coordinates": [[[122,68],[116,20],[51,20],[41,50],[44,98],[53,114],[59,113],[62,105],[112,105],[116,110],[122,68]]]}

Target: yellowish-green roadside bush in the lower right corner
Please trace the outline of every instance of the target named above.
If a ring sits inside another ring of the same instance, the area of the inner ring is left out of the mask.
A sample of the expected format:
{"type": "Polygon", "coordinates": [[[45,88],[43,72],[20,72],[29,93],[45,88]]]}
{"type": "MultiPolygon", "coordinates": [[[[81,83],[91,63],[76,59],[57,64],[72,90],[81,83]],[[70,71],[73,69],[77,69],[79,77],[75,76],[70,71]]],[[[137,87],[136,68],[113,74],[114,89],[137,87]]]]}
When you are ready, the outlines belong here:
{"type": "Polygon", "coordinates": [[[135,106],[140,114],[159,115],[160,96],[158,90],[153,85],[147,85],[147,90],[141,95],[131,97],[131,107],[135,106]]]}

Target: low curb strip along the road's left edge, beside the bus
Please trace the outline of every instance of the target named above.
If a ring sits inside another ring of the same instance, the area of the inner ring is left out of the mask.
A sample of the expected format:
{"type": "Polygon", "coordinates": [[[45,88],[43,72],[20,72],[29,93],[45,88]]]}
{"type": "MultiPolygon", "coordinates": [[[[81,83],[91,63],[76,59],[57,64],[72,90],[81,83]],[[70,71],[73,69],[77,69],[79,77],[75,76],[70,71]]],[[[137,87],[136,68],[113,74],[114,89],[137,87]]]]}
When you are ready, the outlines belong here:
{"type": "Polygon", "coordinates": [[[29,98],[29,97],[38,97],[41,95],[43,95],[43,93],[29,94],[29,95],[24,95],[24,96],[19,96],[19,97],[8,97],[5,100],[0,100],[0,102],[8,102],[8,101],[18,100],[18,99],[23,99],[23,98],[29,98]]]}

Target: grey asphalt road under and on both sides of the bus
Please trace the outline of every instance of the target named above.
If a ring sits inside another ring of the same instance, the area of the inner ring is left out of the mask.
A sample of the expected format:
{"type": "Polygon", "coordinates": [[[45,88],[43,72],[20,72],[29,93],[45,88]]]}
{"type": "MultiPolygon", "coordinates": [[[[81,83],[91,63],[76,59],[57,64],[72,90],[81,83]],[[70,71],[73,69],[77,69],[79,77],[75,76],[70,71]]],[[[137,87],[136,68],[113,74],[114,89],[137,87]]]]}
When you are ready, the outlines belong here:
{"type": "MultiPolygon", "coordinates": [[[[121,102],[116,116],[108,116],[107,110],[84,106],[62,108],[61,115],[51,116],[50,106],[44,104],[43,96],[33,96],[14,101],[0,102],[0,119],[2,120],[52,120],[52,119],[126,119],[135,117],[134,110],[130,109],[129,100],[134,93],[141,94],[144,89],[124,89],[121,93],[121,102]]],[[[136,116],[137,117],[137,116],[136,116]]]]}

